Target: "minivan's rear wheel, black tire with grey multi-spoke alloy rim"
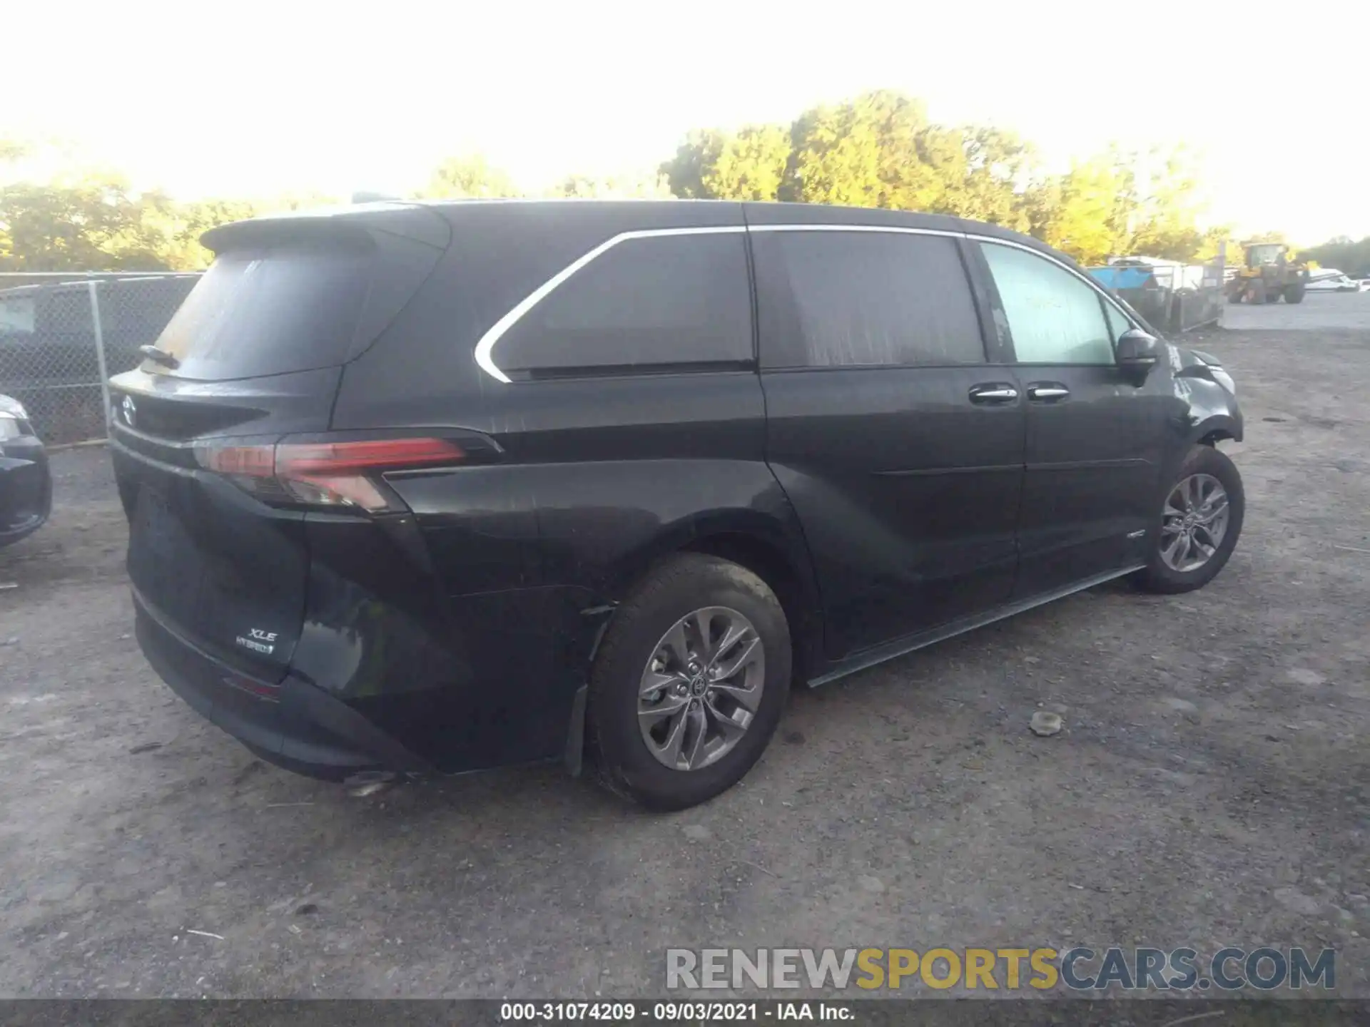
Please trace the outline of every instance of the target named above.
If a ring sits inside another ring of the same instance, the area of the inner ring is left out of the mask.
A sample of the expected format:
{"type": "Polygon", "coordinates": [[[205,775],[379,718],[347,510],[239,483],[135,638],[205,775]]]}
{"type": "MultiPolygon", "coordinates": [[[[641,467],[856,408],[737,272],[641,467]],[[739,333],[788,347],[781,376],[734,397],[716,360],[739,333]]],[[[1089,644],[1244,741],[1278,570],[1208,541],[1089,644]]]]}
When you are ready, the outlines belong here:
{"type": "Polygon", "coordinates": [[[775,593],[740,564],[680,553],[619,605],[588,723],[610,790],[685,809],[736,785],[775,734],[790,683],[775,593]]]}

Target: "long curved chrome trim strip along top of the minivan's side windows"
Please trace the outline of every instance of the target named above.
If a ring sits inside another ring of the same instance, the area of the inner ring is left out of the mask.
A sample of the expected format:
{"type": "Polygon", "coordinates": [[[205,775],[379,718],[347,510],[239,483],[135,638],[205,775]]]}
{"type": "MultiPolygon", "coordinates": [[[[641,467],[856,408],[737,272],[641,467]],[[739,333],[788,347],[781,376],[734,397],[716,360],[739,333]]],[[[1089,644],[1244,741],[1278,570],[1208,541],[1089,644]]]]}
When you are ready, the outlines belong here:
{"type": "Polygon", "coordinates": [[[1069,264],[1058,260],[1051,253],[1045,253],[1034,246],[1025,246],[1022,242],[1014,242],[1012,240],[995,238],[993,236],[978,236],[967,231],[951,231],[948,229],[914,229],[904,227],[900,225],[840,225],[840,223],[822,223],[822,225],[701,225],[688,229],[634,229],[633,231],[621,231],[589,252],[573,260],[570,264],[563,267],[555,275],[543,282],[537,289],[525,296],[512,309],[510,309],[503,318],[500,318],[495,325],[492,325],[480,341],[475,344],[475,363],[480,366],[485,374],[497,382],[510,382],[510,377],[504,374],[496,366],[492,353],[495,351],[495,344],[504,337],[504,334],[512,329],[525,314],[533,309],[537,304],[551,296],[562,283],[564,283],[571,275],[584,268],[590,262],[603,256],[619,242],[627,242],[640,238],[667,238],[671,236],[722,236],[733,233],[745,231],[880,231],[895,236],[943,236],[948,238],[964,238],[974,242],[992,242],[999,246],[1012,246],[1014,249],[1022,249],[1028,253],[1036,253],[1044,260],[1051,262],[1063,271],[1074,275],[1080,281],[1085,282],[1091,289],[1093,289],[1099,296],[1101,296],[1108,305],[1111,305],[1122,319],[1137,327],[1136,322],[1129,316],[1128,311],[1119,307],[1108,292],[1092,279],[1086,274],[1081,274],[1078,270],[1070,267],[1069,264]]]}

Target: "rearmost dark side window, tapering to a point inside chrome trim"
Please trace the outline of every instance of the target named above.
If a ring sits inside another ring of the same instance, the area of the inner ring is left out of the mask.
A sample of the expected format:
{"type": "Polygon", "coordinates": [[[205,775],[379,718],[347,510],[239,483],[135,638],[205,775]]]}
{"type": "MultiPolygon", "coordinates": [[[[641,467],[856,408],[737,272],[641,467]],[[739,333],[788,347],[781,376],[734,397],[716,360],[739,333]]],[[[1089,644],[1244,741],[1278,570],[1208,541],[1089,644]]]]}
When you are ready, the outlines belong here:
{"type": "Polygon", "coordinates": [[[527,311],[490,359],[506,374],[749,363],[743,233],[625,240],[527,311]]]}

